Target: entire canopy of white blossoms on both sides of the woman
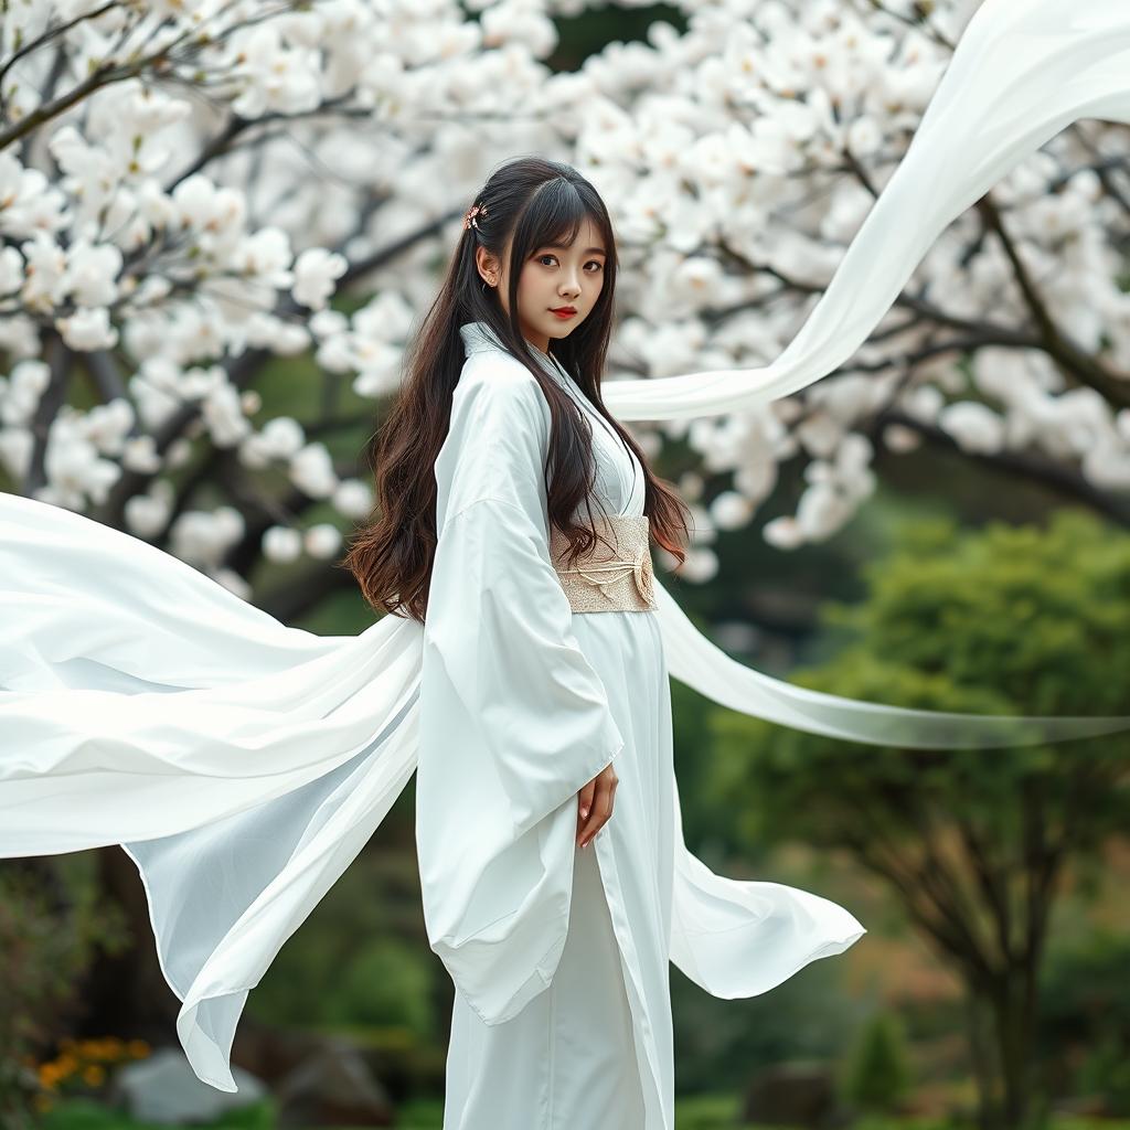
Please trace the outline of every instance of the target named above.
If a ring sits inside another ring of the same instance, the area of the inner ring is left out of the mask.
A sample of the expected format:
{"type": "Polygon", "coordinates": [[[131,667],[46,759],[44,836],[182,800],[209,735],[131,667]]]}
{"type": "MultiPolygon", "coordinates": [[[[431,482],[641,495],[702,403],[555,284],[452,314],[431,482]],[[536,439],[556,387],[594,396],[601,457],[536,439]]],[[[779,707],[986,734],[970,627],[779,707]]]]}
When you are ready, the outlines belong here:
{"type": "MultiPolygon", "coordinates": [[[[249,599],[260,557],[305,556],[314,583],[284,609],[304,611],[348,581],[329,562],[372,504],[327,437],[395,389],[463,209],[518,151],[576,165],[612,211],[609,380],[774,358],[974,5],[683,0],[679,26],[555,70],[555,19],[583,7],[8,0],[11,488],[249,599]],[[316,418],[269,415],[254,385],[278,358],[305,363],[316,418]]],[[[1101,122],[1057,137],[944,233],[867,345],[803,393],[640,425],[652,457],[686,440],[701,458],[679,480],[696,539],[681,575],[713,575],[716,529],[753,522],[786,461],[806,487],[764,525],[782,549],[842,529],[875,488],[876,454],[923,440],[1130,523],[1128,153],[1127,131],[1101,122]]]]}

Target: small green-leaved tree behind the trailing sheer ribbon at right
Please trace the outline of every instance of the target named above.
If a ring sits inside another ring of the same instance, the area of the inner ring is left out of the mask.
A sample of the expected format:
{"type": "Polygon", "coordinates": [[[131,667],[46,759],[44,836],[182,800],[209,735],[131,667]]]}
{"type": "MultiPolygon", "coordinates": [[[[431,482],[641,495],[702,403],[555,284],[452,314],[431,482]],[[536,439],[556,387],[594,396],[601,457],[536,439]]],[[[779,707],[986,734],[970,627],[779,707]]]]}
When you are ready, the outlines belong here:
{"type": "MultiPolygon", "coordinates": [[[[983,714],[1127,712],[1130,538],[1078,512],[1046,530],[914,523],[823,619],[837,657],[791,676],[819,690],[983,714]]],[[[962,979],[981,1123],[1038,1113],[1037,976],[1057,884],[1130,826],[1130,739],[907,750],[716,712],[711,780],[758,846],[846,849],[962,979]]]]}

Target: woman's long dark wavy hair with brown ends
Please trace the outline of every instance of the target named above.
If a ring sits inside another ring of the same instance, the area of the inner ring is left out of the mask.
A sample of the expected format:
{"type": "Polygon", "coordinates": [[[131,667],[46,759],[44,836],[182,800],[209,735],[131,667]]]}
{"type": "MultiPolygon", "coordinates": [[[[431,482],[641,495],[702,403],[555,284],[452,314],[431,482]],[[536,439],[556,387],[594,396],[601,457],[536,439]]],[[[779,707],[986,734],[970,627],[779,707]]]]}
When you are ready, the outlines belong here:
{"type": "MultiPolygon", "coordinates": [[[[467,322],[485,322],[541,386],[550,409],[546,485],[549,521],[568,539],[571,559],[588,551],[599,537],[592,523],[589,493],[596,475],[592,435],[581,409],[545,373],[521,332],[519,276],[528,258],[546,244],[570,244],[585,218],[601,233],[608,250],[605,281],[589,316],[566,338],[550,339],[550,353],[573,376],[597,411],[640,459],[645,480],[644,513],[651,536],[686,558],[689,510],[664,480],[647,467],[638,444],[609,415],[600,394],[600,375],[608,353],[616,289],[616,241],[599,193],[575,168],[537,157],[511,160],[487,180],[475,200],[484,210],[478,228],[468,227],[455,249],[447,277],[406,354],[406,376],[380,429],[367,446],[376,484],[373,514],[354,537],[342,560],[366,601],[376,610],[409,615],[424,623],[436,547],[436,485],[433,468],[451,419],[451,400],[463,366],[459,333],[467,322]],[[476,250],[483,245],[501,262],[513,233],[508,264],[508,308],[494,289],[481,285],[476,250]],[[581,505],[589,523],[576,524],[581,505]],[[676,531],[680,531],[677,537],[676,531]]],[[[601,539],[603,540],[603,539],[601,539]]],[[[607,544],[607,542],[606,542],[607,544]]]]}

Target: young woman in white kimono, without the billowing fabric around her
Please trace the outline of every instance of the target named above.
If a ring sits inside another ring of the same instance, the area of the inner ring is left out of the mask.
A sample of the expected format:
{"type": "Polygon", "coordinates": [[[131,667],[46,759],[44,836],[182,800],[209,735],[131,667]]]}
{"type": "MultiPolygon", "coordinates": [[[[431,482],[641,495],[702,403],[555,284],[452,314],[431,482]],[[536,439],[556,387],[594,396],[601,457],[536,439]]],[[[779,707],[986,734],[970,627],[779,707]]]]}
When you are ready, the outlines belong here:
{"type": "Polygon", "coordinates": [[[673,1124],[671,718],[647,538],[681,556],[685,507],[601,401],[615,285],[586,180],[540,159],[490,177],[347,558],[374,606],[425,623],[417,841],[457,986],[447,1128],[673,1124]]]}

